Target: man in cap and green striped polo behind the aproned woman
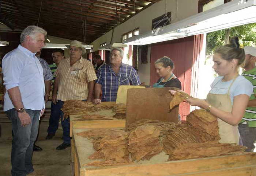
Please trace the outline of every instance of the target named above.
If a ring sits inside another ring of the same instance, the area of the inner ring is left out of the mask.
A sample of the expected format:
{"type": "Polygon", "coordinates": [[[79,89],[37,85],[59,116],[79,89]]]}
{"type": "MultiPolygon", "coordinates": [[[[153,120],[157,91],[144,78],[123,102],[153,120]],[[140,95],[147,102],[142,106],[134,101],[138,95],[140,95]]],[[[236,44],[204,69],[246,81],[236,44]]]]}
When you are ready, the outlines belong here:
{"type": "Polygon", "coordinates": [[[256,140],[256,48],[251,46],[244,47],[245,64],[242,75],[253,85],[253,92],[245,110],[244,117],[238,125],[241,140],[247,147],[246,152],[251,152],[254,148],[253,142],[256,140]]]}

